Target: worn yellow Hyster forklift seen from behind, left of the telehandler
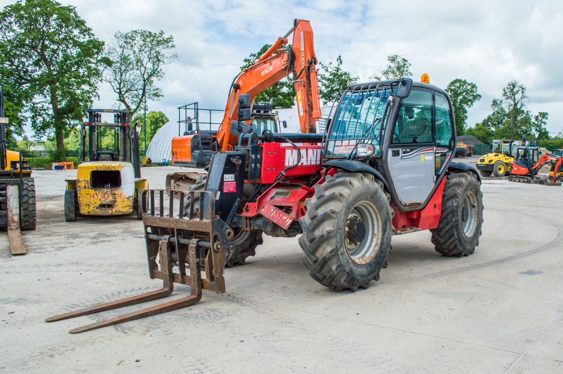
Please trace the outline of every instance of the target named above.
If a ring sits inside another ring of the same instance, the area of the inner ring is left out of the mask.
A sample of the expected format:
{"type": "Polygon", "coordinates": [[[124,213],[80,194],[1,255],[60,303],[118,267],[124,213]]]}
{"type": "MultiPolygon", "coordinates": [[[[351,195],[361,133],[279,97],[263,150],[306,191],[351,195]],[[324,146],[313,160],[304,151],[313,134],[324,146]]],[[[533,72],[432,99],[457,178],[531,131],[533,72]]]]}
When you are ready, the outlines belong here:
{"type": "Polygon", "coordinates": [[[76,221],[79,214],[114,216],[133,212],[141,219],[138,190],[149,185],[141,178],[138,133],[127,123],[128,111],[88,109],[87,112],[88,122],[81,127],[81,163],[77,176],[66,179],[66,221],[76,221]],[[106,112],[114,113],[115,123],[101,122],[101,115],[106,112]]]}

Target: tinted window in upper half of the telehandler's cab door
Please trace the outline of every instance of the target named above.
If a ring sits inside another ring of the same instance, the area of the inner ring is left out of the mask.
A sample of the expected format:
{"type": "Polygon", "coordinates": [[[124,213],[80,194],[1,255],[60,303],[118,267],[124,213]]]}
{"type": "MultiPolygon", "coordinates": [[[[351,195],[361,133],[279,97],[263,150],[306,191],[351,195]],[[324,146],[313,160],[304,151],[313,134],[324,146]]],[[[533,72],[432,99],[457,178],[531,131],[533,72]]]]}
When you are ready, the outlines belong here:
{"type": "Polygon", "coordinates": [[[413,88],[401,100],[393,130],[394,144],[432,143],[432,93],[413,88]]]}

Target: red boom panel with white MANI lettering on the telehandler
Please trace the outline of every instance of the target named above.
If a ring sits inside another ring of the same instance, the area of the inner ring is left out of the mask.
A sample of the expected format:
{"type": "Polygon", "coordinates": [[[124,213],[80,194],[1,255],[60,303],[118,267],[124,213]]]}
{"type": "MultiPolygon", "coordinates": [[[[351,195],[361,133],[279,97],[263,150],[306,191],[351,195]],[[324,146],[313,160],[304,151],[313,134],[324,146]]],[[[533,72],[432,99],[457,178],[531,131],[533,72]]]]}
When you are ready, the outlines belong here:
{"type": "MultiPolygon", "coordinates": [[[[261,178],[258,183],[273,183],[280,171],[287,166],[295,165],[298,152],[293,145],[281,143],[262,143],[261,178]]],[[[323,161],[320,145],[300,145],[301,162],[299,166],[292,167],[285,172],[285,177],[309,176],[318,172],[323,161]]]]}

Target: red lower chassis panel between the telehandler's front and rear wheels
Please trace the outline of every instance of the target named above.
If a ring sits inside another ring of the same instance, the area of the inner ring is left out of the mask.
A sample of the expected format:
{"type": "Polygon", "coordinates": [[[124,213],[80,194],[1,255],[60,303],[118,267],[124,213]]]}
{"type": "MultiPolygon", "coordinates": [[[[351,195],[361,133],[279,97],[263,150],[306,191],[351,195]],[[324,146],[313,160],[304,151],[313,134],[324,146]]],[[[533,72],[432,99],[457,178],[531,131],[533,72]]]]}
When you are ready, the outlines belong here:
{"type": "Polygon", "coordinates": [[[434,195],[421,211],[401,212],[396,206],[391,204],[395,211],[393,226],[395,230],[406,229],[407,227],[419,227],[421,230],[436,229],[442,214],[442,196],[446,179],[442,180],[434,195]]]}

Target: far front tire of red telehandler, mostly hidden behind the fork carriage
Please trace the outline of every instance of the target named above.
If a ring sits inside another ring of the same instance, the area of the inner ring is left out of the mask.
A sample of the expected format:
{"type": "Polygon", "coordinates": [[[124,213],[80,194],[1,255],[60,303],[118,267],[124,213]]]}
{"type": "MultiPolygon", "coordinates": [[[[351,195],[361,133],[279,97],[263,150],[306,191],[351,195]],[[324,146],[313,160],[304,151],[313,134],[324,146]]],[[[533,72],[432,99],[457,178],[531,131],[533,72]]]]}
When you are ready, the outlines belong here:
{"type": "MultiPolygon", "coordinates": [[[[188,190],[203,190],[205,188],[205,181],[207,181],[207,175],[198,176],[195,184],[189,186],[188,190]]],[[[246,186],[245,186],[246,187],[246,186]]],[[[250,197],[253,193],[253,189],[248,189],[243,192],[244,196],[250,197]]],[[[194,215],[199,211],[199,197],[194,199],[194,215]]],[[[186,202],[184,204],[184,214],[187,215],[190,212],[190,197],[186,196],[186,202]]],[[[256,247],[263,243],[262,231],[260,230],[242,230],[233,229],[235,235],[232,239],[235,245],[235,250],[231,257],[227,259],[225,266],[233,267],[236,264],[243,265],[249,256],[256,255],[256,247]]]]}

